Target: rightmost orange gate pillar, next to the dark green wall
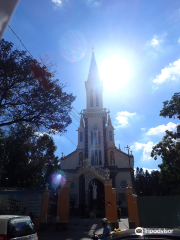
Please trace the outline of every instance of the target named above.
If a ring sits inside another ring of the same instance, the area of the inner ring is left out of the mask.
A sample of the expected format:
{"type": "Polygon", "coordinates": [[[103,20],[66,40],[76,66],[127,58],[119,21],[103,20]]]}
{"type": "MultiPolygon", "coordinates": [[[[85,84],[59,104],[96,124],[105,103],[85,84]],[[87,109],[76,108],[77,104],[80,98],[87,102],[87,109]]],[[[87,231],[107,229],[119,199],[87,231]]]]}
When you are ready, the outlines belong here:
{"type": "Polygon", "coordinates": [[[129,228],[139,227],[139,215],[137,206],[137,195],[133,194],[131,187],[126,188],[129,228]]]}

